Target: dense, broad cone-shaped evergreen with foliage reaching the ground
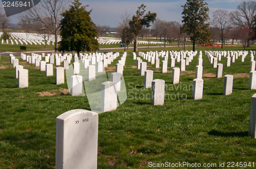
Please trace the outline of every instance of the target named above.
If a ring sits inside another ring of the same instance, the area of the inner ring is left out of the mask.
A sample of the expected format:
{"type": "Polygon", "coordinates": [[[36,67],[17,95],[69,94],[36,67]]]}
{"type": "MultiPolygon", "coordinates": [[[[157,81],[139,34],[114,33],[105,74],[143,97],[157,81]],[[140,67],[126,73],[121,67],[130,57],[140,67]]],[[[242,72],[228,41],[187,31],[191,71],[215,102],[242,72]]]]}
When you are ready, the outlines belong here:
{"type": "Polygon", "coordinates": [[[87,6],[81,6],[79,0],[72,2],[69,10],[62,13],[60,21],[59,51],[96,51],[99,48],[95,24],[89,16],[87,6]]]}

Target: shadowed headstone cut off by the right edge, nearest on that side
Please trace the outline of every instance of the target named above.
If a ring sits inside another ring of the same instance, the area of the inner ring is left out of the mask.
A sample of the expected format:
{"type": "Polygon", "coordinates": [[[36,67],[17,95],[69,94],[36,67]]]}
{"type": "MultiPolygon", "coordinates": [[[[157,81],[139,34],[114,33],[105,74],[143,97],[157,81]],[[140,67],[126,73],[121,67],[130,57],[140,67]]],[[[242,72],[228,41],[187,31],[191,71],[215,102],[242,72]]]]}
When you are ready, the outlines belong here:
{"type": "Polygon", "coordinates": [[[256,138],[256,94],[251,97],[249,136],[256,138]]]}

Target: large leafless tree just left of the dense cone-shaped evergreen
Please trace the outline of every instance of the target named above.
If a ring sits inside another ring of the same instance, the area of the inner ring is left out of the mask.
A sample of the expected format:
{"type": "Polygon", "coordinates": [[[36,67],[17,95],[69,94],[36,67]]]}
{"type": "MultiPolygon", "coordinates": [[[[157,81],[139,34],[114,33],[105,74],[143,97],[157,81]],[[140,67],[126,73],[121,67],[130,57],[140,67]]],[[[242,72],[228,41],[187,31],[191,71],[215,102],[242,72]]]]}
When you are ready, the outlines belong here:
{"type": "Polygon", "coordinates": [[[38,5],[27,11],[31,18],[44,24],[46,29],[55,36],[55,51],[57,51],[61,13],[65,11],[68,3],[69,0],[42,0],[38,5]]]}

